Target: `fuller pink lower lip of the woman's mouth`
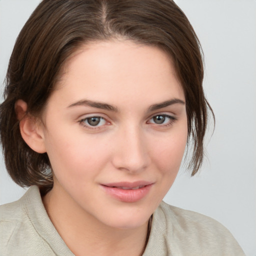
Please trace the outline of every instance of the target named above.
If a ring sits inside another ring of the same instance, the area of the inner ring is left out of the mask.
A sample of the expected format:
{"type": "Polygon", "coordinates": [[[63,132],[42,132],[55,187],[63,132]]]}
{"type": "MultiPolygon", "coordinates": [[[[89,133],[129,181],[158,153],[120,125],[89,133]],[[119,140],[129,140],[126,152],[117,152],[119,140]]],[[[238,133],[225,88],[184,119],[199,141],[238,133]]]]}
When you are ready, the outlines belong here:
{"type": "Polygon", "coordinates": [[[104,186],[104,185],[101,185],[101,186],[103,187],[105,192],[109,194],[111,197],[113,197],[114,199],[117,199],[123,202],[136,202],[148,194],[152,184],[143,186],[138,189],[121,189],[118,187],[110,187],[110,186],[104,186]]]}

